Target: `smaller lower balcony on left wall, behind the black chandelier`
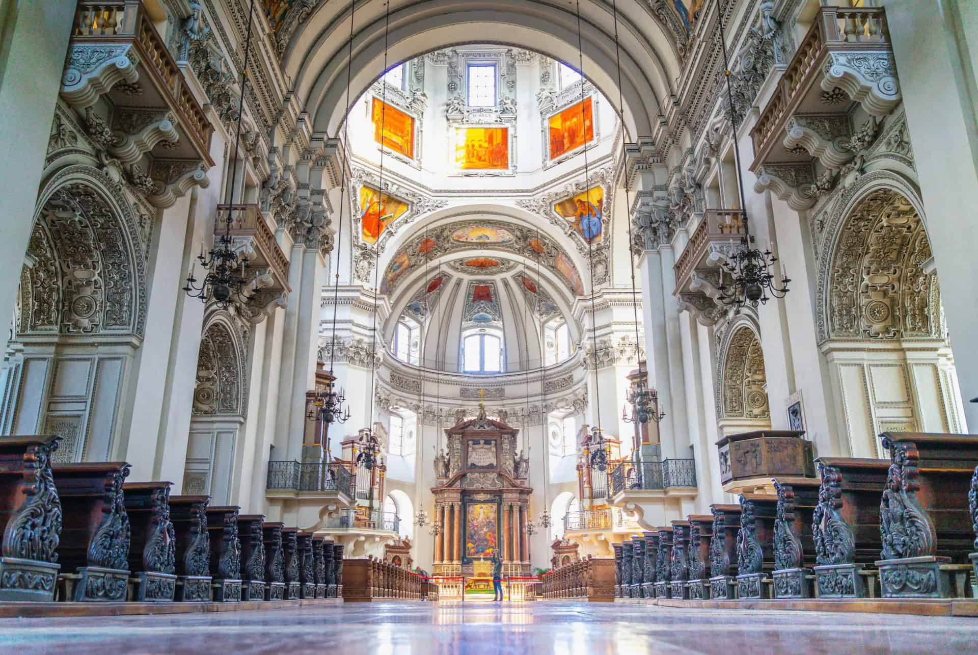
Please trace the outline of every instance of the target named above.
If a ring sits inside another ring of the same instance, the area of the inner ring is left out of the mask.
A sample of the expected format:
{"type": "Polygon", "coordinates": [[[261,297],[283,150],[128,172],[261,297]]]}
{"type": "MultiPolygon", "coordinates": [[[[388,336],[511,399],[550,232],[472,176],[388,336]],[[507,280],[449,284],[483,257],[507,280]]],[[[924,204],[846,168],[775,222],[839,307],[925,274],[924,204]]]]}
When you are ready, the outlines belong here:
{"type": "Polygon", "coordinates": [[[289,287],[289,259],[275,240],[264,214],[257,205],[218,205],[218,219],[214,221],[214,235],[223,235],[227,222],[231,222],[231,243],[238,252],[244,252],[251,268],[267,269],[259,276],[258,287],[263,292],[286,292],[289,287]]]}

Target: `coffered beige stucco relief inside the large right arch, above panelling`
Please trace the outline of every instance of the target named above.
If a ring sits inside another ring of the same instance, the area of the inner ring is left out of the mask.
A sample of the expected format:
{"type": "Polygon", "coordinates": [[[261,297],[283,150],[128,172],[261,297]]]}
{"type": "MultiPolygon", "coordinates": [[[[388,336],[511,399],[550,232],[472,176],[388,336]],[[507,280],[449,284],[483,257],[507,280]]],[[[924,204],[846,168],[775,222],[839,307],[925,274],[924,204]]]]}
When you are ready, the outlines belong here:
{"type": "Polygon", "coordinates": [[[923,223],[897,191],[870,193],[839,235],[830,269],[832,338],[872,340],[939,337],[931,306],[933,274],[923,223]]]}

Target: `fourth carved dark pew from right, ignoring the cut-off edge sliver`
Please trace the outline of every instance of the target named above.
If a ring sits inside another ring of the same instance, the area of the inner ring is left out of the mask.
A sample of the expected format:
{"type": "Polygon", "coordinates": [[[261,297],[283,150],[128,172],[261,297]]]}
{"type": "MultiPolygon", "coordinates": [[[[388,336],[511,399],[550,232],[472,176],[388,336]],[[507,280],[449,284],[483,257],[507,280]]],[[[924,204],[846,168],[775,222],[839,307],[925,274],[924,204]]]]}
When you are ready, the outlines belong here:
{"type": "Polygon", "coordinates": [[[773,493],[740,494],[740,531],[737,533],[737,598],[766,598],[767,574],[775,570],[775,519],[778,496],[773,493]]]}

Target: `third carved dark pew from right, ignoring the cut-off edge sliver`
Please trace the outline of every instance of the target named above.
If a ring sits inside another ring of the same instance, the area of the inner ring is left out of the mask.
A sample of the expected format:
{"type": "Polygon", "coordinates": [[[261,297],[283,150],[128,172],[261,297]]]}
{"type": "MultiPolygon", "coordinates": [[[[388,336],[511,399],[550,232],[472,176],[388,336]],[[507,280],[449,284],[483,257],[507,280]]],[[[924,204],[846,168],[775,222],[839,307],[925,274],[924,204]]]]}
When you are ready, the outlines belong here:
{"type": "Polygon", "coordinates": [[[810,598],[816,564],[812,515],[819,504],[817,481],[775,478],[778,517],[775,519],[775,598],[810,598]]]}

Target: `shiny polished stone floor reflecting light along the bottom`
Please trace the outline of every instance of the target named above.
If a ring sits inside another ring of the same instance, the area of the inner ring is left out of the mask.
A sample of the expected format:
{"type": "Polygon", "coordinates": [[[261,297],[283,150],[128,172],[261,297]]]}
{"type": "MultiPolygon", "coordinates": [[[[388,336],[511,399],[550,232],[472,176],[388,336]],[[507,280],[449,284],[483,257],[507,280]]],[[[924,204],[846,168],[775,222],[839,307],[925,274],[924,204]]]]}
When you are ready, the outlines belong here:
{"type": "Polygon", "coordinates": [[[937,655],[978,652],[978,619],[549,601],[0,620],[0,653],[94,652],[937,655]]]}

